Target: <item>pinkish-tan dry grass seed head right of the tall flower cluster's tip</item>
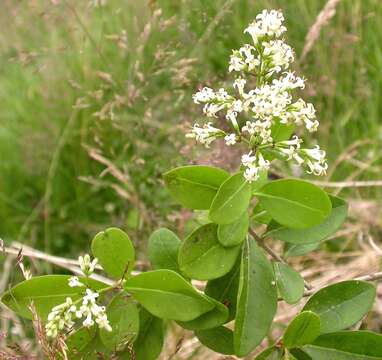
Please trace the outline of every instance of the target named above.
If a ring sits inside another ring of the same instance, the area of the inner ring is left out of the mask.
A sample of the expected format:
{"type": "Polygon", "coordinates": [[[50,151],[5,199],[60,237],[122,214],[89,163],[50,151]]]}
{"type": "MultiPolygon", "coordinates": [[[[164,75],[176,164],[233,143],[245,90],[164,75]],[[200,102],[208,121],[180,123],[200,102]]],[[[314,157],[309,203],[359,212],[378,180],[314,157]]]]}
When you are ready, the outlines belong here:
{"type": "Polygon", "coordinates": [[[302,50],[300,61],[303,61],[306,55],[312,50],[315,42],[320,36],[321,29],[328,24],[329,20],[336,14],[336,7],[341,0],[329,0],[321,12],[318,14],[316,21],[310,27],[305,37],[305,45],[302,50]]]}

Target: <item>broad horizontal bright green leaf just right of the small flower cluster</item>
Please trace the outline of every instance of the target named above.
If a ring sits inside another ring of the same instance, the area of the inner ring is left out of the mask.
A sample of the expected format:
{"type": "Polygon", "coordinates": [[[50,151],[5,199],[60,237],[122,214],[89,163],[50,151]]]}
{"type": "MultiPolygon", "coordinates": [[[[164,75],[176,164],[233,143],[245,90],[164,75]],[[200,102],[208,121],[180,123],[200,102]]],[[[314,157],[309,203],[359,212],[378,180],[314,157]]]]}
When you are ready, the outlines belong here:
{"type": "Polygon", "coordinates": [[[148,271],[134,276],[126,281],[125,289],[146,310],[162,319],[190,321],[215,306],[171,270],[148,271]]]}

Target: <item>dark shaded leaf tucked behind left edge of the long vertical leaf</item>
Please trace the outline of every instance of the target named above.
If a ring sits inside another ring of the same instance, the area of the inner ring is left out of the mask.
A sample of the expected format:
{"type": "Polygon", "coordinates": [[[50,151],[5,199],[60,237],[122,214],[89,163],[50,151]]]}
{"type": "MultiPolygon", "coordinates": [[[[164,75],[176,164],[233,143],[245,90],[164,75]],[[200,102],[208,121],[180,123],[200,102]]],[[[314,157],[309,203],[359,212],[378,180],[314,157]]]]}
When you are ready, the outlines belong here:
{"type": "Polygon", "coordinates": [[[228,320],[236,315],[237,293],[239,289],[240,262],[237,261],[232,270],[223,277],[210,280],[204,290],[205,294],[225,304],[229,310],[228,320]]]}

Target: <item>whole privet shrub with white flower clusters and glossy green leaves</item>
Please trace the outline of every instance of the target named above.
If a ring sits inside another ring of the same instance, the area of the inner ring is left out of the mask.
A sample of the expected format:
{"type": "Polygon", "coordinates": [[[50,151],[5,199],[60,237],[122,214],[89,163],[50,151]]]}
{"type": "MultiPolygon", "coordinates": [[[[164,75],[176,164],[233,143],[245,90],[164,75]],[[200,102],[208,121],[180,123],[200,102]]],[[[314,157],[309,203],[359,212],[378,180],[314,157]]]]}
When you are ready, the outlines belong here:
{"type": "Polygon", "coordinates": [[[283,20],[264,10],[245,29],[252,43],[230,57],[231,92],[205,87],[193,97],[211,121],[187,136],[206,147],[221,138],[244,149],[239,171],[192,165],[164,174],[174,199],[208,213],[208,221],[183,241],[168,229],[155,231],[151,271],[132,272],[128,235],[109,228],[92,241],[94,259],[79,258],[83,276],[32,277],[3,295],[17,314],[44,324],[51,344],[64,344],[57,358],[154,360],[168,321],[218,353],[245,357],[270,334],[279,301],[297,304],[309,295],[282,337],[252,358],[382,359],[381,335],[349,330],[373,306],[373,284],[349,280],[314,292],[267,245],[277,239],[290,256],[306,253],[347,215],[344,200],[307,181],[268,178],[274,159],[314,175],[327,169],[325,152],[294,135],[319,123],[313,105],[293,97],[305,81],[288,72],[294,53],[282,39],[283,20]],[[100,269],[112,281],[94,276],[100,269]]]}

